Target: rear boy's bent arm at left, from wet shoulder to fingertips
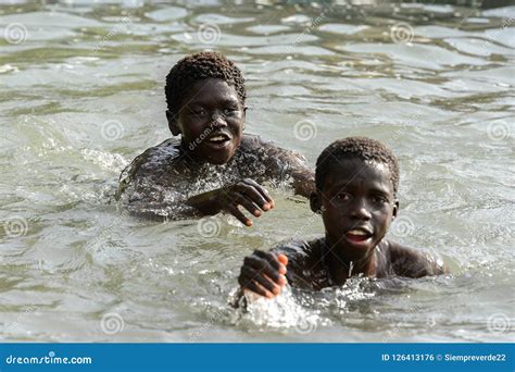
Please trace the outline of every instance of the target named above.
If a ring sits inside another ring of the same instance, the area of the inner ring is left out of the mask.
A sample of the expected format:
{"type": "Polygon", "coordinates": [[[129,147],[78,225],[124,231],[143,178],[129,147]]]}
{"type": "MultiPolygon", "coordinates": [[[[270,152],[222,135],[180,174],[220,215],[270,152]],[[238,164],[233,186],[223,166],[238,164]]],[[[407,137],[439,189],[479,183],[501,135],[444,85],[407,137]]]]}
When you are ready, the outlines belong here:
{"type": "Polygon", "coordinates": [[[218,189],[187,196],[177,190],[172,179],[175,148],[162,144],[137,157],[120,176],[116,200],[122,200],[134,215],[150,220],[188,219],[213,215],[226,211],[247,226],[252,225],[239,209],[247,209],[254,216],[274,208],[274,200],[266,189],[252,179],[241,179],[218,189]],[[169,159],[169,160],[168,160],[169,159]]]}

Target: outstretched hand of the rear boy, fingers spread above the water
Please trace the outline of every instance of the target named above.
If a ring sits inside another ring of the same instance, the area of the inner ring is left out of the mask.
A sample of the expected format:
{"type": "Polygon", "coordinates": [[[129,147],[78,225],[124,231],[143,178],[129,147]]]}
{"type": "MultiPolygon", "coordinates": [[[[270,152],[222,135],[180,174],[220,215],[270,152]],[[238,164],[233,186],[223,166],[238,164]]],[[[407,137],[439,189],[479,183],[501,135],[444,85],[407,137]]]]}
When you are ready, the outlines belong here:
{"type": "Polygon", "coordinates": [[[218,210],[229,212],[247,226],[252,226],[252,221],[239,210],[239,206],[258,218],[261,216],[262,210],[266,212],[274,208],[274,200],[268,191],[250,178],[217,189],[214,202],[218,210]]]}

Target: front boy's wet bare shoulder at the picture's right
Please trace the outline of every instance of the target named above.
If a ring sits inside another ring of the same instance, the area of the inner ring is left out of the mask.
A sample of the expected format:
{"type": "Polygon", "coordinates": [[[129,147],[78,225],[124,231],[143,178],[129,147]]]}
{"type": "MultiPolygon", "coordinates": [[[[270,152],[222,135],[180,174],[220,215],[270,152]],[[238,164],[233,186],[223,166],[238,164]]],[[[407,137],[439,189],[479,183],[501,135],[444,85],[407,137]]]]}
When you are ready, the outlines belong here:
{"type": "Polygon", "coordinates": [[[449,272],[443,261],[438,257],[391,240],[388,240],[387,245],[392,269],[399,276],[422,277],[449,272]]]}

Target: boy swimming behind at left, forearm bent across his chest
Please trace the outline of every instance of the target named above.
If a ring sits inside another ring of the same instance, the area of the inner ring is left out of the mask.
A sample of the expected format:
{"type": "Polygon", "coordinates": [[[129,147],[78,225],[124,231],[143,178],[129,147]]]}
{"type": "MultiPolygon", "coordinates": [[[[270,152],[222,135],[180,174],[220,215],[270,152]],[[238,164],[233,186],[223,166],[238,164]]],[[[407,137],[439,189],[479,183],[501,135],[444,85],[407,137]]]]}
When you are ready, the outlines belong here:
{"type": "Polygon", "coordinates": [[[116,199],[146,216],[180,219],[228,212],[251,226],[274,208],[262,186],[291,184],[309,197],[314,174],[300,154],[243,135],[247,92],[240,70],[224,55],[201,52],[166,76],[168,139],[137,157],[121,175],[116,199]]]}

